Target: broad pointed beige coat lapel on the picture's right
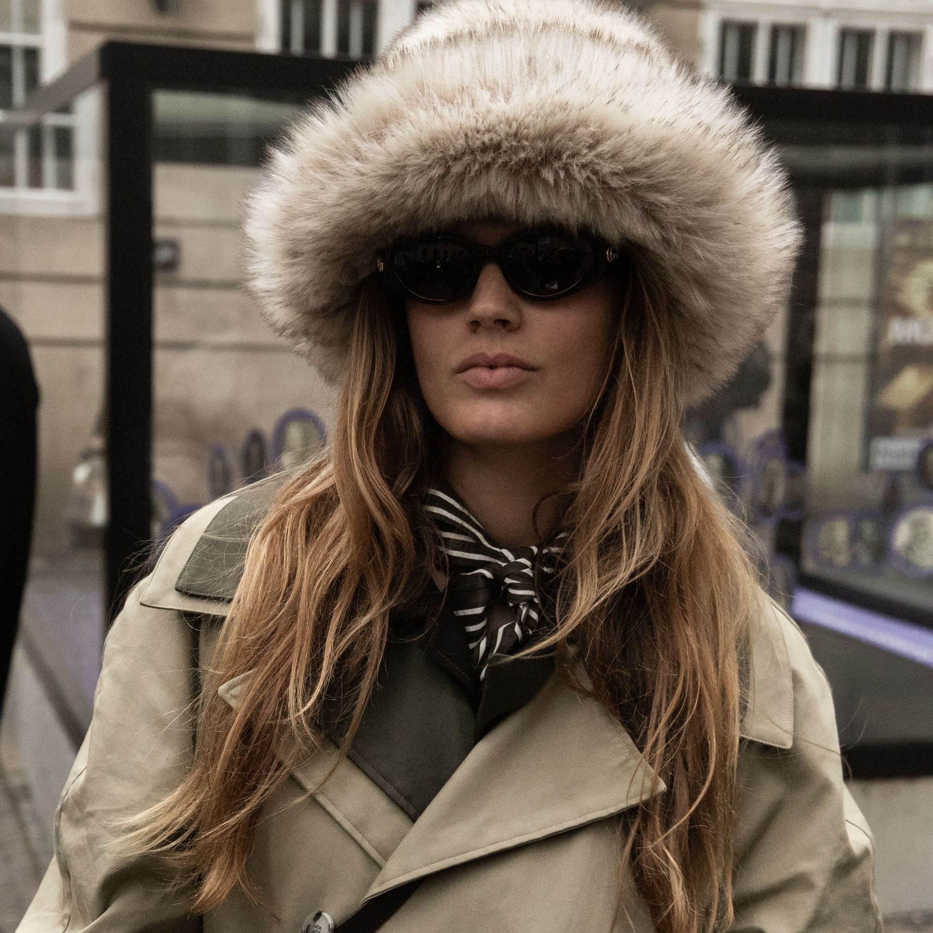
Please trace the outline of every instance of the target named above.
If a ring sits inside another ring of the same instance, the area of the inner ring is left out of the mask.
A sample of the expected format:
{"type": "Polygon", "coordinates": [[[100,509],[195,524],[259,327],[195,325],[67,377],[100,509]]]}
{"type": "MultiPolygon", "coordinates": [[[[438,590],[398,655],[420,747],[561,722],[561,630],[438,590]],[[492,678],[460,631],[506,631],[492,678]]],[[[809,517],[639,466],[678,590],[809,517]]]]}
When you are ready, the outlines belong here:
{"type": "Polygon", "coordinates": [[[367,898],[620,813],[663,789],[620,725],[552,675],[474,746],[367,898]]]}

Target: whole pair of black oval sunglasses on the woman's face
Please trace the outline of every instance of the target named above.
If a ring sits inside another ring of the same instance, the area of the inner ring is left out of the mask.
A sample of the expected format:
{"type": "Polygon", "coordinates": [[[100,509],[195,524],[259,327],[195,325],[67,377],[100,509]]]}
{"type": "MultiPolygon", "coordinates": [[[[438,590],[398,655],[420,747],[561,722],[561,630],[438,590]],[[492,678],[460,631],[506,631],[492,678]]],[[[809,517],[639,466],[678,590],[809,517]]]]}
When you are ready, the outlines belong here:
{"type": "Polygon", "coordinates": [[[523,298],[564,298],[620,268],[620,252],[587,232],[522,230],[482,246],[446,231],[401,240],[379,253],[377,268],[394,291],[425,304],[449,304],[476,287],[487,262],[523,298]]]}

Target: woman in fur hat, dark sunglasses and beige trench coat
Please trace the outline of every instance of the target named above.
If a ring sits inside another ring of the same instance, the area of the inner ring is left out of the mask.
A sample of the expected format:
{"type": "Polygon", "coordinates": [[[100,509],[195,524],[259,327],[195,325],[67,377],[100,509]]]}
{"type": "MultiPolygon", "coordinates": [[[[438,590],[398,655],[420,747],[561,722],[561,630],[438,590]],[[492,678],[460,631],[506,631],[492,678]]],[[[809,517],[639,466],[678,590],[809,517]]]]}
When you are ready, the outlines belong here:
{"type": "Polygon", "coordinates": [[[332,448],[128,599],[21,930],[869,931],[829,687],[680,432],[786,180],[596,0],[452,0],[317,104],[252,285],[332,448]]]}

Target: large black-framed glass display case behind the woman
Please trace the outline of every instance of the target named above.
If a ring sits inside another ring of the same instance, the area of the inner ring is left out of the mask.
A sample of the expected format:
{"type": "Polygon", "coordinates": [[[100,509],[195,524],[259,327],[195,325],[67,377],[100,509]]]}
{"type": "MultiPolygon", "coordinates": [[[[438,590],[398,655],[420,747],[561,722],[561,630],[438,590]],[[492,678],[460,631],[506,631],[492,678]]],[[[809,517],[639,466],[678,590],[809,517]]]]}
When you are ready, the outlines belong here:
{"type": "MultiPolygon", "coordinates": [[[[23,624],[77,733],[160,540],[327,442],[332,391],[244,292],[240,228],[266,147],[358,64],[107,43],[0,121],[68,114],[63,177],[85,179],[67,218],[0,217],[23,283],[0,300],[43,390],[23,624]]],[[[933,773],[933,101],[736,92],[805,244],[784,313],[684,433],[829,675],[852,772],[933,773]]]]}

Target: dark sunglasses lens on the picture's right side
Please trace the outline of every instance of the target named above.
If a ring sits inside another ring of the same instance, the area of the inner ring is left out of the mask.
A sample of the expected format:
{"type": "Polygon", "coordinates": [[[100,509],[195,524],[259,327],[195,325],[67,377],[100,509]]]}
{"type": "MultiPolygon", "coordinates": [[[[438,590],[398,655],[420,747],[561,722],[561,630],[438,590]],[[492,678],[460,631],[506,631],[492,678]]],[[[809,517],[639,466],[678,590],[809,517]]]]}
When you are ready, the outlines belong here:
{"type": "Polygon", "coordinates": [[[578,285],[595,261],[592,246],[566,233],[537,233],[518,240],[504,263],[511,281],[536,298],[553,298],[578,285]]]}

